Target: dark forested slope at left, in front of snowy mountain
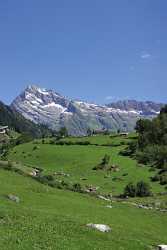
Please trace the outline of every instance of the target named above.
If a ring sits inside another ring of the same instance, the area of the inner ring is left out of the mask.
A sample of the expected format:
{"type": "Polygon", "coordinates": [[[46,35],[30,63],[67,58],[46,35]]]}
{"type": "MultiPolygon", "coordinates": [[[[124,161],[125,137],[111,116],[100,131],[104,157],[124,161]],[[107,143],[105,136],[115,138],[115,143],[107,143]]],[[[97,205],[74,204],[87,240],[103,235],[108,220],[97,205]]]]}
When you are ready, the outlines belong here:
{"type": "Polygon", "coordinates": [[[39,138],[46,133],[50,133],[49,129],[45,126],[37,125],[27,120],[22,114],[2,102],[0,102],[0,125],[7,125],[19,133],[28,133],[34,138],[39,138]]]}

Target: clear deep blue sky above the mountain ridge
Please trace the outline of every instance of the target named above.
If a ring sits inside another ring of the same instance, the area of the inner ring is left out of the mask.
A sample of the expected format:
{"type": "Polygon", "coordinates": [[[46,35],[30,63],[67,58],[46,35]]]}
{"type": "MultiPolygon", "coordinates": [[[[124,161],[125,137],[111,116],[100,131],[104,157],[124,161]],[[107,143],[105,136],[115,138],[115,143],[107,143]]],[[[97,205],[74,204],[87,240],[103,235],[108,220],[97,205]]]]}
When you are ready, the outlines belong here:
{"type": "Polygon", "coordinates": [[[166,0],[0,0],[0,100],[38,84],[167,102],[166,0]]]}

